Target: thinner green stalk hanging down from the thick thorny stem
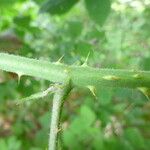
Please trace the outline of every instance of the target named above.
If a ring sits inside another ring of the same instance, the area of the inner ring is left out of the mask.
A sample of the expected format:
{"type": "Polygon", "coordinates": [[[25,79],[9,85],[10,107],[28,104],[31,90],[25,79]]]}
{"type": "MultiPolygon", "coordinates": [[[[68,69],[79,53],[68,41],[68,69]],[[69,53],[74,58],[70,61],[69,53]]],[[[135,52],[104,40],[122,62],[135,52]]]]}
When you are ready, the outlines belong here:
{"type": "Polygon", "coordinates": [[[53,98],[53,108],[50,124],[49,150],[56,150],[58,146],[58,133],[60,130],[60,117],[64,100],[71,90],[70,83],[59,87],[53,98]]]}

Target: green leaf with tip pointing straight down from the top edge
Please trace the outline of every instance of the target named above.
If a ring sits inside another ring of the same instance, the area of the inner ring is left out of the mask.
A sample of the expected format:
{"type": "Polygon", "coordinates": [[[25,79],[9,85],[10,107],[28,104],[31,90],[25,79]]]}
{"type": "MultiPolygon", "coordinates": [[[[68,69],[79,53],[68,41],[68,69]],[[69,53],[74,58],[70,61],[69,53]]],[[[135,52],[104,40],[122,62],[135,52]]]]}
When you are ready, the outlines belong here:
{"type": "Polygon", "coordinates": [[[85,0],[85,5],[91,19],[103,25],[110,12],[110,0],[85,0]]]}

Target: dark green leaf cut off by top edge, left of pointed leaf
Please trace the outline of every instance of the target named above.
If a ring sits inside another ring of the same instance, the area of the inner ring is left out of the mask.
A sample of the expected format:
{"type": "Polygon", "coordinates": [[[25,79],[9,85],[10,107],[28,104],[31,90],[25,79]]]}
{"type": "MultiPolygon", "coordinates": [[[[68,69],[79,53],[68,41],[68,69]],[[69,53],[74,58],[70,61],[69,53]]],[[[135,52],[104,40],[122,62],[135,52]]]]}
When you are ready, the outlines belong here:
{"type": "Polygon", "coordinates": [[[76,2],[78,0],[48,0],[42,5],[40,11],[60,15],[69,11],[76,2]]]}

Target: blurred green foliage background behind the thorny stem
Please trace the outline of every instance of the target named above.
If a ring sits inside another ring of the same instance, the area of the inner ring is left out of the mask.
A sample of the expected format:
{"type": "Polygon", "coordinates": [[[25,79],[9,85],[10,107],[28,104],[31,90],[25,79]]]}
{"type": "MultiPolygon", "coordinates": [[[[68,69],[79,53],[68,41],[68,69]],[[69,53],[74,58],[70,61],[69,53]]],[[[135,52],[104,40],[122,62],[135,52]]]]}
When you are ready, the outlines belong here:
{"type": "MultiPolygon", "coordinates": [[[[95,68],[150,70],[149,0],[0,0],[0,52],[95,68]]],[[[41,72],[42,73],[42,72],[41,72]]],[[[46,150],[50,83],[0,70],[0,149],[46,150]]],[[[149,150],[150,101],[138,90],[76,87],[62,113],[62,150],[149,150]]]]}

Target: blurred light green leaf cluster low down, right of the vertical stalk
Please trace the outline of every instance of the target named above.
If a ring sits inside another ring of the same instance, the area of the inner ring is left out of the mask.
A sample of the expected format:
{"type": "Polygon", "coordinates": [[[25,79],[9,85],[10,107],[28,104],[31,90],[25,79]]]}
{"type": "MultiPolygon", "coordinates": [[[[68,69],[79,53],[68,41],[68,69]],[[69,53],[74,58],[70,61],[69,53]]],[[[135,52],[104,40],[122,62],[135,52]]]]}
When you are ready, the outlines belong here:
{"type": "MultiPolygon", "coordinates": [[[[95,121],[95,113],[90,107],[83,105],[80,108],[79,117],[75,117],[69,128],[63,133],[64,144],[67,148],[82,150],[90,142],[101,149],[103,145],[101,131],[99,127],[94,126],[95,121]]],[[[92,144],[89,145],[89,149],[92,149],[91,146],[92,144]]]]}

